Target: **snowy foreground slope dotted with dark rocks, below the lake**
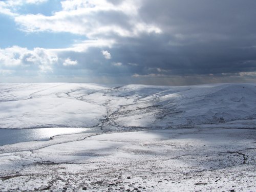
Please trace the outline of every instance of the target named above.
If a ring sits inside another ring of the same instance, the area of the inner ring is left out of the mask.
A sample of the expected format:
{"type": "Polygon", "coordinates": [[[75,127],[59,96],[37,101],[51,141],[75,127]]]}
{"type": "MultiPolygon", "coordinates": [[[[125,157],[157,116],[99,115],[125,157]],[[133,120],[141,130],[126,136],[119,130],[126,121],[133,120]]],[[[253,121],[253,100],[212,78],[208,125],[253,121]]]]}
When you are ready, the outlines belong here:
{"type": "Polygon", "coordinates": [[[0,146],[0,191],[255,191],[255,133],[83,133],[0,146]]]}

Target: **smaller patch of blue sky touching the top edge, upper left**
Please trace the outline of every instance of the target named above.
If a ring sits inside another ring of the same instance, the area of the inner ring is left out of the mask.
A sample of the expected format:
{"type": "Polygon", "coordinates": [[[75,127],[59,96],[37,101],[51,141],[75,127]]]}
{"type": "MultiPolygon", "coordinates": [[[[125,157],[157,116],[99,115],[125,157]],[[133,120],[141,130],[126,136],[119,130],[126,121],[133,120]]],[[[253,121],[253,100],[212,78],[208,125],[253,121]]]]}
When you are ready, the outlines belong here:
{"type": "Polygon", "coordinates": [[[42,14],[46,16],[53,15],[54,12],[61,10],[60,0],[48,0],[40,4],[24,4],[18,9],[19,14],[42,14]]]}

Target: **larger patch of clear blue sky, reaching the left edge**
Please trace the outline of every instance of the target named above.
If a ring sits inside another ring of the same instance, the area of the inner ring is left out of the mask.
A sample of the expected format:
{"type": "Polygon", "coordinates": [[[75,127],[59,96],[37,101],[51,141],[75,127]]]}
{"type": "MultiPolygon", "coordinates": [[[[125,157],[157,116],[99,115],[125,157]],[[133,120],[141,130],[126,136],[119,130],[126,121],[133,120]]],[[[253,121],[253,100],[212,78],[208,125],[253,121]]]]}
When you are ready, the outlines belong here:
{"type": "Polygon", "coordinates": [[[82,35],[71,33],[37,32],[26,33],[18,30],[18,26],[10,16],[0,14],[0,48],[4,49],[12,46],[35,47],[54,49],[67,48],[87,38],[82,35]]]}

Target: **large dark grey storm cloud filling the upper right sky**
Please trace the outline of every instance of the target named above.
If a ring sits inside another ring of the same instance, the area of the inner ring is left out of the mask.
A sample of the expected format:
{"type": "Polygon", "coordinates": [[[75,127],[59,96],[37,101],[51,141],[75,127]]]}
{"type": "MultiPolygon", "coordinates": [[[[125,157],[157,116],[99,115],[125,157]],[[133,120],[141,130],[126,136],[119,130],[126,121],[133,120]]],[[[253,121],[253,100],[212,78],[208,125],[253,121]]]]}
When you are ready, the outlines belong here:
{"type": "Polygon", "coordinates": [[[146,1],[141,18],[163,33],[134,39],[120,54],[180,75],[255,71],[255,8],[255,1],[146,1]]]}

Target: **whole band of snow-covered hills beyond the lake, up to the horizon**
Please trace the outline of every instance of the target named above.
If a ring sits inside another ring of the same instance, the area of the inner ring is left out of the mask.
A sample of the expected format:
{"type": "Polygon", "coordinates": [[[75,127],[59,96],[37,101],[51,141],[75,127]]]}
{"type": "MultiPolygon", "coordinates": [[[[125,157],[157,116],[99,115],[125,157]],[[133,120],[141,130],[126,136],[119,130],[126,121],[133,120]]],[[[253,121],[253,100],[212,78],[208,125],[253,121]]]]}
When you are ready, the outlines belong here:
{"type": "Polygon", "coordinates": [[[252,127],[255,86],[1,83],[0,127],[252,127]]]}

